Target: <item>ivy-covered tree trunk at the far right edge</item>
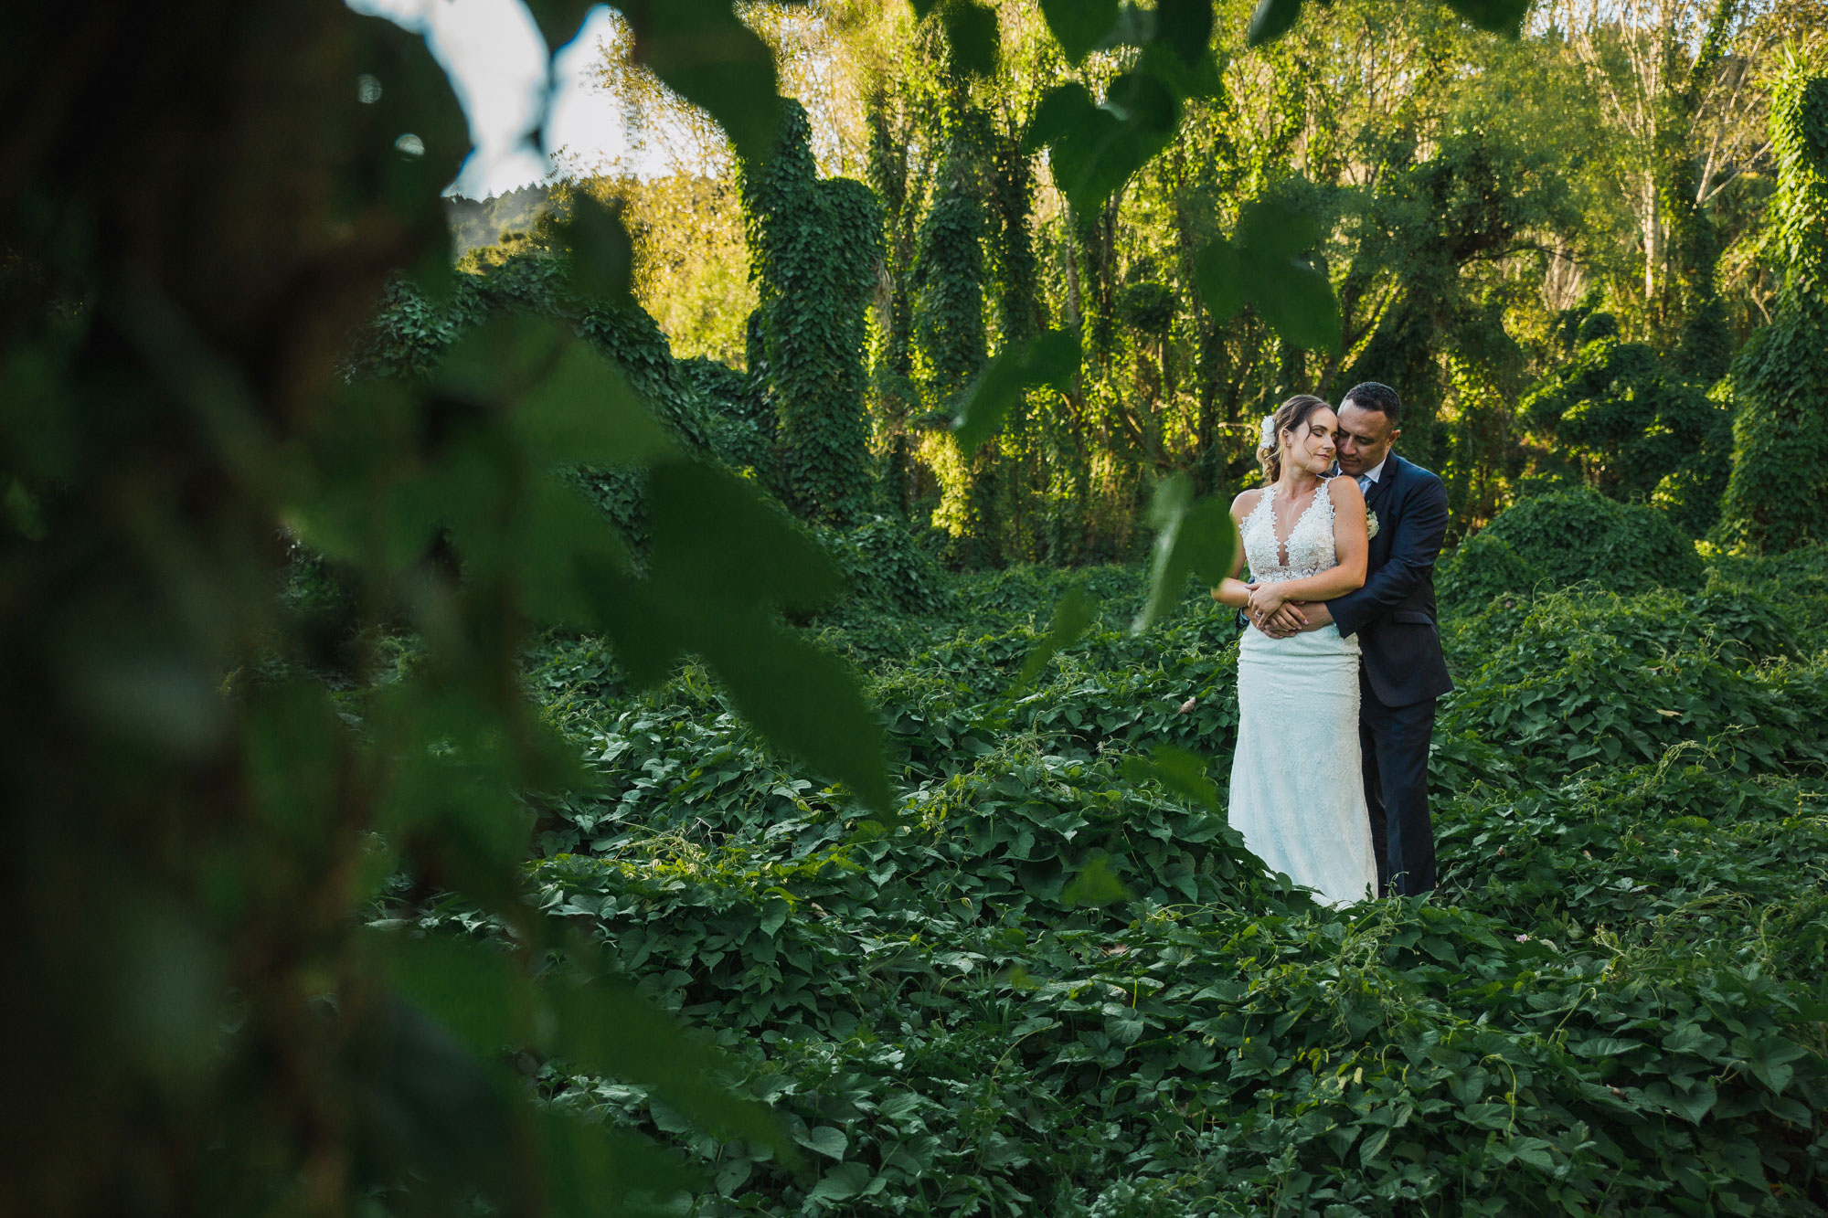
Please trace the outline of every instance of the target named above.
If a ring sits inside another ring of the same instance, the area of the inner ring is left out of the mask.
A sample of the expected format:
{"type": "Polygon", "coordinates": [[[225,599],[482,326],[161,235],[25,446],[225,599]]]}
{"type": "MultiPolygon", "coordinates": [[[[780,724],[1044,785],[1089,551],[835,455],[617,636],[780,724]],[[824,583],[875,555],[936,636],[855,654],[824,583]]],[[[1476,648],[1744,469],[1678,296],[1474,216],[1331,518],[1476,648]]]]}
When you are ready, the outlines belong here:
{"type": "Polygon", "coordinates": [[[1720,538],[1788,550],[1828,538],[1828,75],[1786,59],[1771,91],[1777,198],[1771,225],[1784,267],[1771,324],[1733,364],[1733,474],[1720,538]]]}

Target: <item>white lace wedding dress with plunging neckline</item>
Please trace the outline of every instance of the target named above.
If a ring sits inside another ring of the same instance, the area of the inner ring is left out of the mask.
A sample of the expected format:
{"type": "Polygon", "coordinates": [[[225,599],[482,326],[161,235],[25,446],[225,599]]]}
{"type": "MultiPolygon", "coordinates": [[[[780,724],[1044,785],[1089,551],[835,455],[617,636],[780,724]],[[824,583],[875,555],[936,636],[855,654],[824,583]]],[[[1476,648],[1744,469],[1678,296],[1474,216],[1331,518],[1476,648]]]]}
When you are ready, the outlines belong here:
{"type": "MultiPolygon", "coordinates": [[[[1338,563],[1325,486],[1276,538],[1276,488],[1243,525],[1254,583],[1302,580],[1338,563]]],[[[1323,625],[1291,638],[1256,627],[1238,647],[1238,752],[1230,823],[1270,871],[1345,905],[1376,896],[1376,858],[1358,764],[1358,640],[1323,625]]]]}

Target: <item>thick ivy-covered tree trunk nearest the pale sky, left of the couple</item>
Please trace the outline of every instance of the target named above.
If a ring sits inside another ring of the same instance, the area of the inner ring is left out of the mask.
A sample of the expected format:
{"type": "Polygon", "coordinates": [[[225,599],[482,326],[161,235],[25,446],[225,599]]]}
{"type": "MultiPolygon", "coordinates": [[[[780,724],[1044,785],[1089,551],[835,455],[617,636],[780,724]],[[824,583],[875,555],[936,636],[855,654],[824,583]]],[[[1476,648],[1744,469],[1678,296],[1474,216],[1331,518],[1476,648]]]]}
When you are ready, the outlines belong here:
{"type": "Polygon", "coordinates": [[[859,181],[819,181],[806,110],[782,108],[773,159],[742,172],[773,475],[802,519],[854,525],[874,499],[863,353],[881,207],[859,181]]]}

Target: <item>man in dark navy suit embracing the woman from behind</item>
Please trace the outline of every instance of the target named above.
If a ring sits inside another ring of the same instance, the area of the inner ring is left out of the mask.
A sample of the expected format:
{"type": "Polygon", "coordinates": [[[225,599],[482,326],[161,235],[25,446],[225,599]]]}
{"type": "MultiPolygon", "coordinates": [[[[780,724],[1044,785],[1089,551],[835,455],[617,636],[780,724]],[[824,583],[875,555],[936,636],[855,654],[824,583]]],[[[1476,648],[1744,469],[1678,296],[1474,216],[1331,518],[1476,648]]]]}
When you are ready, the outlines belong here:
{"type": "Polygon", "coordinates": [[[1402,402],[1386,384],[1353,386],[1340,402],[1338,466],[1358,479],[1376,521],[1366,583],[1338,600],[1296,607],[1270,622],[1285,636],[1325,624],[1358,635],[1358,743],[1376,847],[1378,896],[1435,887],[1435,828],[1428,817],[1428,746],[1435,699],[1453,688],[1435,627],[1435,558],[1448,534],[1448,490],[1391,446],[1402,402]]]}

